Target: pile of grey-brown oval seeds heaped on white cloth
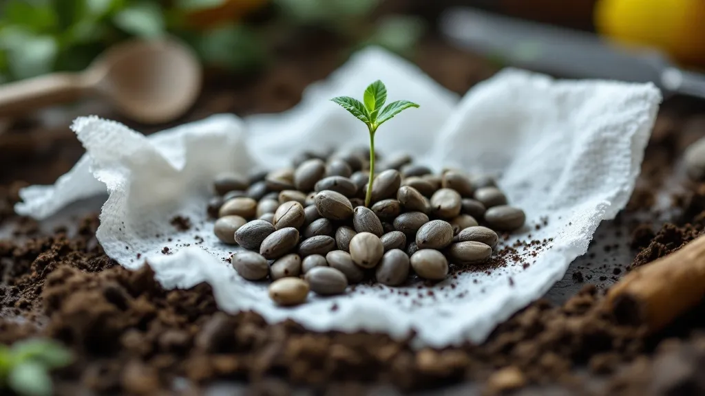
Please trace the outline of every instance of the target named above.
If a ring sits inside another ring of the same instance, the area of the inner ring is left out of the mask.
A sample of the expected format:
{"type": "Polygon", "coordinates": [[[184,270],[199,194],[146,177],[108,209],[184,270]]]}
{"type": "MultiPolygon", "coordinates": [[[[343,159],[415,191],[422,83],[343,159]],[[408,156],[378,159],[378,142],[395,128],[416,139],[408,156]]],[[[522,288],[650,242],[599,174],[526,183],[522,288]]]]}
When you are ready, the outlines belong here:
{"type": "Polygon", "coordinates": [[[365,278],[388,286],[411,273],[443,280],[448,261],[481,264],[496,231],[525,223],[492,178],[434,174],[407,155],[376,166],[368,208],[368,165],[366,150],[309,152],[291,168],[218,175],[208,211],[219,240],[247,249],[233,255],[235,270],[247,280],[269,276],[271,299],[294,305],[309,290],[338,295],[365,278]]]}

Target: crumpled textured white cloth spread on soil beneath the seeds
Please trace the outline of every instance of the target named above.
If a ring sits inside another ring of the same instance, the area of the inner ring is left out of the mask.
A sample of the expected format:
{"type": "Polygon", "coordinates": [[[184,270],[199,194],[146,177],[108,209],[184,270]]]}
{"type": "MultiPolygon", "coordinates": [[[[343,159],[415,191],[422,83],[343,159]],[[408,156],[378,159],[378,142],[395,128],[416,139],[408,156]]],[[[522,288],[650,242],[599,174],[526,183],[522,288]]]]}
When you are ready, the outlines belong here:
{"type": "Polygon", "coordinates": [[[213,116],[150,137],[118,123],[79,118],[73,129],[87,156],[53,187],[23,190],[16,210],[44,218],[107,187],[99,241],[127,268],[147,259],[164,287],[205,281],[221,309],[252,309],[270,322],[292,318],[312,330],[369,330],[402,338],[413,329],[417,346],[482,342],[497,323],[560,280],[586,252],[600,221],[625,206],[660,101],[653,85],[553,81],[521,70],[505,70],[461,100],[415,66],[367,49],[281,114],[244,122],[213,116]],[[390,100],[421,105],[379,129],[381,153],[404,151],[436,169],[500,174],[510,202],[527,213],[525,232],[513,235],[510,244],[553,240],[542,249],[518,248],[524,254],[518,261],[460,273],[432,287],[360,285],[341,297],[311,294],[300,307],[276,307],[265,283],[243,280],[226,263],[235,248],[212,235],[204,216],[212,177],[288,165],[303,149],[366,144],[362,123],[328,99],[359,97],[377,78],[386,83],[390,100]],[[179,232],[170,224],[176,215],[190,218],[190,230],[179,232]]]}

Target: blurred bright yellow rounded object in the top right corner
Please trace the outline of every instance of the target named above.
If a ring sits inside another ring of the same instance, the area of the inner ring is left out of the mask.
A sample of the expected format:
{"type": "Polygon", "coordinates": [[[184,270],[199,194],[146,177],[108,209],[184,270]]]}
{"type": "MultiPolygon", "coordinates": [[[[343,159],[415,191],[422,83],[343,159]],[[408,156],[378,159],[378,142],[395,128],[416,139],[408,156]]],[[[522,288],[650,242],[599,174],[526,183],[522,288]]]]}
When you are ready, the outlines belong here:
{"type": "Polygon", "coordinates": [[[617,42],[705,66],[705,0],[599,0],[595,25],[617,42]]]}

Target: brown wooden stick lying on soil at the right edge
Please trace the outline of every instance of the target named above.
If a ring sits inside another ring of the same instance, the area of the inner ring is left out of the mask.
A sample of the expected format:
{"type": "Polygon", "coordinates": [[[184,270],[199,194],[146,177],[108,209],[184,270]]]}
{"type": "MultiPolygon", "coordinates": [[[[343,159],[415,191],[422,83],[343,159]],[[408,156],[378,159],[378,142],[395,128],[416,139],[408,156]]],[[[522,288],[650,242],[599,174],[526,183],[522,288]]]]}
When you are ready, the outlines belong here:
{"type": "Polygon", "coordinates": [[[611,287],[606,302],[618,319],[659,330],[705,297],[705,235],[636,268],[611,287]]]}

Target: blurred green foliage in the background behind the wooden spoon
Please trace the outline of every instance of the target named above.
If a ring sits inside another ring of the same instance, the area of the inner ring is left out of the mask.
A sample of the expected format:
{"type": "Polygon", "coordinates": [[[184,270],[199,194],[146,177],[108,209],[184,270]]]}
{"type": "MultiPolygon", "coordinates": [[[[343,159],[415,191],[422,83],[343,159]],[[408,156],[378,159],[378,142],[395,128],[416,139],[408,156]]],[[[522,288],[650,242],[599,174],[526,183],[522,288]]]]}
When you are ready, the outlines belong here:
{"type": "Polygon", "coordinates": [[[233,0],[0,1],[0,82],[82,70],[106,47],[129,37],[176,35],[207,65],[243,72],[276,56],[268,42],[273,29],[316,25],[348,41],[379,44],[400,54],[409,54],[423,32],[422,23],[407,16],[370,23],[381,0],[264,0],[274,10],[264,25],[239,20],[198,29],[189,25],[192,13],[228,1],[233,0]]]}

